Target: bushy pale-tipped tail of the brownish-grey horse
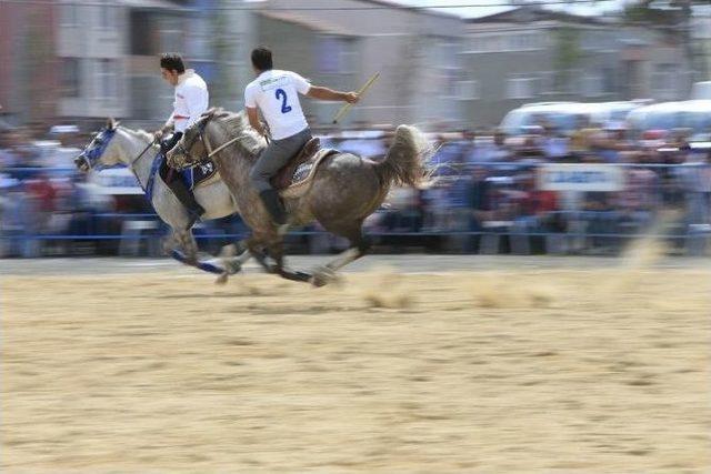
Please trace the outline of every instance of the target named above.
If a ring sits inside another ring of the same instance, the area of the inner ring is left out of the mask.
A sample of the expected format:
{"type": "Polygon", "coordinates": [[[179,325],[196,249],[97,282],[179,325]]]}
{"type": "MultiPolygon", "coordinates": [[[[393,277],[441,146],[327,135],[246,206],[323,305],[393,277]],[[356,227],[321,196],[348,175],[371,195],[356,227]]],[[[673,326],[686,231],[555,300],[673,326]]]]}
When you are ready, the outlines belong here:
{"type": "Polygon", "coordinates": [[[421,131],[400,125],[384,160],[375,164],[375,170],[384,184],[427,185],[434,171],[430,164],[433,151],[421,131]]]}

